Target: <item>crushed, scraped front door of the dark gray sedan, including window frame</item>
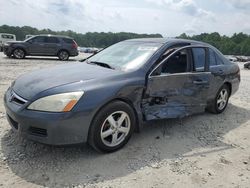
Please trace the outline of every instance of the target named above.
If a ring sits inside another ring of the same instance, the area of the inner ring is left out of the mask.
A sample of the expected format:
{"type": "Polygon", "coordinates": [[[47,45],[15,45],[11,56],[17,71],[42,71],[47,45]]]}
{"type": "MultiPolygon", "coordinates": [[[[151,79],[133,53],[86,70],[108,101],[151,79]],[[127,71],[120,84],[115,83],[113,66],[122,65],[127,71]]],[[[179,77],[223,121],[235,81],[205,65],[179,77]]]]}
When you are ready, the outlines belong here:
{"type": "Polygon", "coordinates": [[[179,118],[204,111],[209,72],[204,48],[181,48],[149,75],[142,108],[146,120],[179,118]]]}

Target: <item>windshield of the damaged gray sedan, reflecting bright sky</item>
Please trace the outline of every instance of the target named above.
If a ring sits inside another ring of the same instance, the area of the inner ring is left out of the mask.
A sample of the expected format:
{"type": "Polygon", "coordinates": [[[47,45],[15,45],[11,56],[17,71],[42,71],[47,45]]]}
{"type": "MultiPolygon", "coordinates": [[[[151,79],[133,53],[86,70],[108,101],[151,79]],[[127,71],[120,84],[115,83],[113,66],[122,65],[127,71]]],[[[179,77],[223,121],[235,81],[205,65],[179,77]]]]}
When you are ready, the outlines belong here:
{"type": "Polygon", "coordinates": [[[101,62],[123,71],[141,67],[161,47],[160,43],[119,42],[90,57],[88,62],[101,62]]]}

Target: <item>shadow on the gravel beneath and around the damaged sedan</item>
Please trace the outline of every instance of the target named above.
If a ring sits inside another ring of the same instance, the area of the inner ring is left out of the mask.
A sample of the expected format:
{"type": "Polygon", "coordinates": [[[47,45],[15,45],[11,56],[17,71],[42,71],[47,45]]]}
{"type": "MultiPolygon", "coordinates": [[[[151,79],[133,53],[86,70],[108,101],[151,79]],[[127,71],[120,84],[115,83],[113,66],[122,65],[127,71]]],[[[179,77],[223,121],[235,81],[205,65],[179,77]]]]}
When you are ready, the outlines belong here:
{"type": "Polygon", "coordinates": [[[232,104],[219,115],[145,123],[121,150],[100,154],[88,145],[47,146],[19,138],[11,130],[1,139],[10,170],[28,182],[63,187],[123,177],[153,164],[190,155],[232,149],[223,137],[249,120],[250,111],[232,104]],[[198,152],[200,149],[206,152],[198,152]],[[190,154],[192,153],[192,154],[190,154]],[[67,183],[65,183],[67,182],[67,183]]]}

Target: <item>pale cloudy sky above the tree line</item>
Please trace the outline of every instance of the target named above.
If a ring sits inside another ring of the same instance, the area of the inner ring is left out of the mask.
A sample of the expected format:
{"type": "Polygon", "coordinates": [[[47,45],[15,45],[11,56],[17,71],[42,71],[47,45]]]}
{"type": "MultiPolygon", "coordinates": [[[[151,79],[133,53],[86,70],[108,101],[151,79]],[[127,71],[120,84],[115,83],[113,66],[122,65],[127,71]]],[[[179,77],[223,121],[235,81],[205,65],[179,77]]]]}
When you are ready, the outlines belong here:
{"type": "Polygon", "coordinates": [[[76,32],[250,34],[250,0],[0,0],[0,25],[76,32]]]}

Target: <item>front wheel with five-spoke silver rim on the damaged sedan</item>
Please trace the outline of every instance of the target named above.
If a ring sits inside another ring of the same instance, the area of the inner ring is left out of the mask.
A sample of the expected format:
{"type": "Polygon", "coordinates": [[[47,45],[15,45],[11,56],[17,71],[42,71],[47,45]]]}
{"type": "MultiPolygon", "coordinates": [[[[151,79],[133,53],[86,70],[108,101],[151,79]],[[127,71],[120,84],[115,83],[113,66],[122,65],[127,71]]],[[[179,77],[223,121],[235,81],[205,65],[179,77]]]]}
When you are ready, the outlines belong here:
{"type": "Polygon", "coordinates": [[[134,111],[128,104],[112,102],[103,107],[93,119],[88,143],[99,152],[114,152],[129,141],[135,123],[134,111]],[[122,121],[119,122],[120,118],[122,121]]]}

